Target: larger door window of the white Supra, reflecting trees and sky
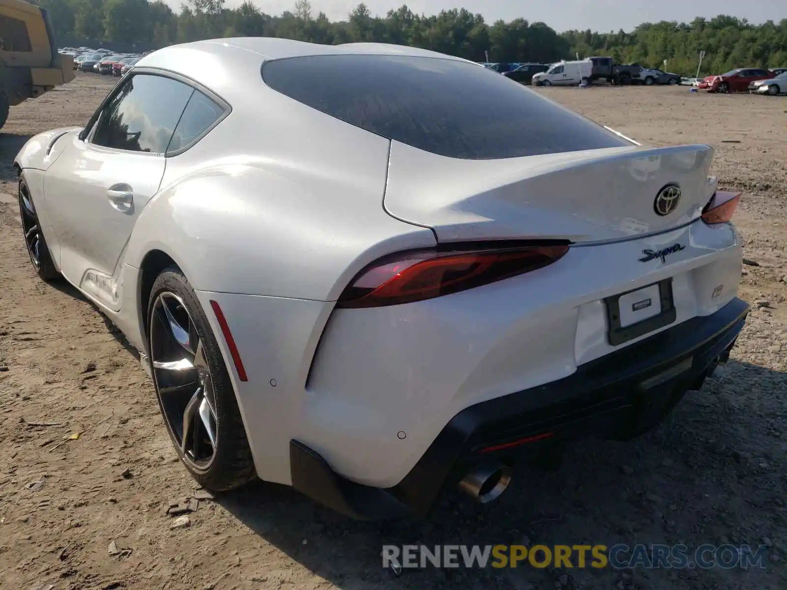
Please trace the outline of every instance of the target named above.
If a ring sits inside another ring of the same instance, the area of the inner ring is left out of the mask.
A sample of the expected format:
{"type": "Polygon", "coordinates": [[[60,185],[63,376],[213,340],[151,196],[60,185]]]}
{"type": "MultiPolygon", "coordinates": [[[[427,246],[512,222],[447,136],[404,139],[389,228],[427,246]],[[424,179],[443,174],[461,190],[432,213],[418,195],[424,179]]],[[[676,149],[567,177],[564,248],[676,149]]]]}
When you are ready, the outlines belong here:
{"type": "Polygon", "coordinates": [[[132,76],[102,112],[91,141],[130,152],[164,153],[193,92],[163,76],[132,76]]]}

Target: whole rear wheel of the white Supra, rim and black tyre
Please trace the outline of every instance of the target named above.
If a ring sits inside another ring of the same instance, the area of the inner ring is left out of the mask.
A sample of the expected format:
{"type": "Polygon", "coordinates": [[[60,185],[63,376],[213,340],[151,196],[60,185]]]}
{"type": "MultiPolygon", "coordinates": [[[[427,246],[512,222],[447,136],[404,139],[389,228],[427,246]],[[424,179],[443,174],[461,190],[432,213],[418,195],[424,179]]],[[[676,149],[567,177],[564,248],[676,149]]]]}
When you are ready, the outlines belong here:
{"type": "Polygon", "coordinates": [[[253,479],[254,463],[219,345],[188,279],[177,267],[150,292],[148,347],[161,415],[176,452],[205,489],[253,479]]]}

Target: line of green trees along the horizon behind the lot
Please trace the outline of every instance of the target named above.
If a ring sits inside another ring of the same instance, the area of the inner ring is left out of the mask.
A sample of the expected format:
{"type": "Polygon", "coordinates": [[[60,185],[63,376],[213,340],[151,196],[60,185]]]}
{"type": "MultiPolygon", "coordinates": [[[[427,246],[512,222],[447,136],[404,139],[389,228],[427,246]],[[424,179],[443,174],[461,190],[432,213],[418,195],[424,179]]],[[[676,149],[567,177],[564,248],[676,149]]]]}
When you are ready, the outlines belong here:
{"type": "Polygon", "coordinates": [[[751,24],[720,15],[690,23],[644,23],[634,31],[557,33],[545,23],[523,18],[487,24],[466,9],[436,15],[413,13],[407,6],[385,17],[359,4],[347,20],[331,21],[297,0],[279,16],[262,12],[246,0],[227,9],[224,0],[188,0],[174,12],[161,0],[37,0],[49,13],[58,38],[139,43],[157,49],[172,43],[216,37],[286,37],[316,43],[386,42],[423,47],[473,61],[552,63],[592,55],[609,55],[621,63],[663,68],[681,75],[732,68],[787,67],[787,19],[778,24],[751,24]]]}

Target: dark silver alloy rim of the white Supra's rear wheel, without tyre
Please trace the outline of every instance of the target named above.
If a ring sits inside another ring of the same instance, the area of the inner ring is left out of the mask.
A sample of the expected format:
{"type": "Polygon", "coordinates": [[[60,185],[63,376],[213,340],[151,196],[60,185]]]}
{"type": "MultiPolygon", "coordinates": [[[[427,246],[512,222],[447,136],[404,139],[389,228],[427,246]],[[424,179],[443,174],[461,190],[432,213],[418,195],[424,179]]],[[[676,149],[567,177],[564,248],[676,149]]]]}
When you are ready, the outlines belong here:
{"type": "Polygon", "coordinates": [[[205,348],[183,300],[163,291],[150,313],[153,380],[180,454],[198,470],[216,455],[216,394],[205,348]]]}

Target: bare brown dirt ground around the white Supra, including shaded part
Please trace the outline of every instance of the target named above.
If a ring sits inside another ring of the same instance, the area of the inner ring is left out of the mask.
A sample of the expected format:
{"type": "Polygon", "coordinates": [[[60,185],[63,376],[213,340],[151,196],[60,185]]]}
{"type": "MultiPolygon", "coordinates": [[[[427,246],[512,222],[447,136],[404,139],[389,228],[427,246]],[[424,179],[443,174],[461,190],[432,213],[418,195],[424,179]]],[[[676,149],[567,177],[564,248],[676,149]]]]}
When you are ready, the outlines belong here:
{"type": "Polygon", "coordinates": [[[752,314],[722,374],[659,430],[576,445],[557,472],[522,467],[484,507],[449,494],[423,522],[350,522],[258,483],[201,500],[188,528],[171,529],[170,501],[195,486],[153,387],[91,304],[35,277],[17,216],[17,150],[39,131],[86,122],[111,83],[80,75],[13,107],[0,133],[0,588],[787,587],[787,98],[538,90],[642,142],[710,143],[722,186],[745,190],[737,225],[755,263],[741,287],[752,314]],[[64,438],[72,433],[82,434],[64,438]],[[747,571],[520,566],[395,577],[381,567],[383,543],[528,540],[764,544],[768,557],[766,569],[747,571]]]}

